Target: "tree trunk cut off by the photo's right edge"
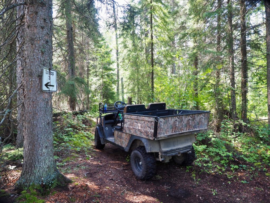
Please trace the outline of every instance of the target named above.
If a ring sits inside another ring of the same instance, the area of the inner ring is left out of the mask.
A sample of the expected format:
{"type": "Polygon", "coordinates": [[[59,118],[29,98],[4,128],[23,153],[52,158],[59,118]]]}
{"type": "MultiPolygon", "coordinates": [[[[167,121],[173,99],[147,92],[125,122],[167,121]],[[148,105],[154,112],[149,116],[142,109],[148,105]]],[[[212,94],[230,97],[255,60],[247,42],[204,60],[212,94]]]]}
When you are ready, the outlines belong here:
{"type": "MultiPolygon", "coordinates": [[[[270,2],[265,0],[268,127],[270,127],[270,2]]],[[[269,135],[270,137],[270,135],[269,135]]]]}

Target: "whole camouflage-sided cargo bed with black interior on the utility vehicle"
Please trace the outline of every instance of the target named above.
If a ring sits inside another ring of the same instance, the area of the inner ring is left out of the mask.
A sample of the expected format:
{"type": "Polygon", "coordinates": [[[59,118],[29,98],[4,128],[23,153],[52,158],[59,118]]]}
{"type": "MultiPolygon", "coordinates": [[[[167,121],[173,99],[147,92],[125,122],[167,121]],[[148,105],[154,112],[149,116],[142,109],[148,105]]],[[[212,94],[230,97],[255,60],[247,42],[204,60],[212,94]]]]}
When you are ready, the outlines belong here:
{"type": "Polygon", "coordinates": [[[187,135],[208,129],[209,111],[164,109],[124,112],[123,132],[157,140],[187,135]]]}

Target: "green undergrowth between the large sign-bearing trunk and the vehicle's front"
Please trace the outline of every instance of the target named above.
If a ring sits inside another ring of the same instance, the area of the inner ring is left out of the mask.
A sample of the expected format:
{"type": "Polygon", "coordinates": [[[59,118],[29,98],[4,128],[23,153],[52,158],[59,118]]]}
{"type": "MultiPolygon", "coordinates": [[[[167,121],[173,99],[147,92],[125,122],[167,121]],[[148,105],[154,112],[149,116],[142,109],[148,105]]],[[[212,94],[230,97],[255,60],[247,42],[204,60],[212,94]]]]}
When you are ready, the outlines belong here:
{"type": "Polygon", "coordinates": [[[96,123],[89,118],[89,115],[74,116],[68,113],[58,117],[53,124],[53,145],[56,165],[59,168],[76,158],[89,159],[91,157],[94,140],[91,131],[96,123]]]}

